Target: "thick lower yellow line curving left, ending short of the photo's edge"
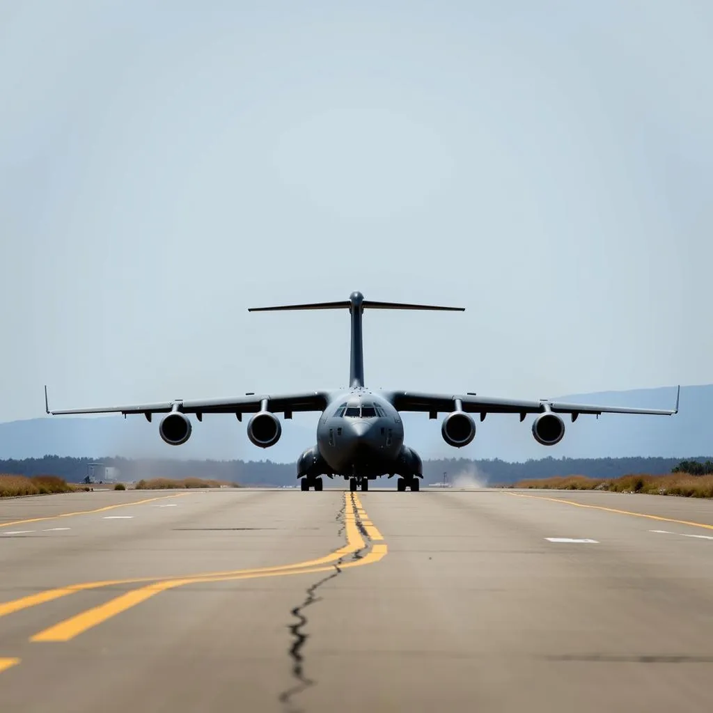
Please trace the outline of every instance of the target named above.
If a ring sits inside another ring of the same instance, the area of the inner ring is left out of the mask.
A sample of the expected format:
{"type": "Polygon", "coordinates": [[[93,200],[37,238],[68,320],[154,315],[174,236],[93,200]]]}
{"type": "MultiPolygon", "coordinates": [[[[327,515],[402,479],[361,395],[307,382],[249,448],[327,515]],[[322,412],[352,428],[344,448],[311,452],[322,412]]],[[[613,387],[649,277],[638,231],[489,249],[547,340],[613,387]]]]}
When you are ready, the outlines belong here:
{"type": "MultiPolygon", "coordinates": [[[[141,602],[154,597],[155,595],[177,587],[185,585],[205,583],[205,582],[229,582],[234,580],[257,579],[264,577],[284,577],[288,575],[301,575],[317,572],[328,572],[333,570],[337,565],[334,564],[346,554],[354,553],[366,545],[361,537],[359,528],[356,525],[356,516],[354,509],[349,512],[349,503],[347,495],[344,495],[347,507],[344,511],[344,524],[347,532],[347,546],[336,550],[331,555],[327,555],[319,560],[309,560],[307,562],[295,563],[293,565],[284,565],[275,568],[261,568],[260,570],[236,570],[234,573],[215,573],[214,575],[195,575],[193,577],[184,577],[171,580],[163,580],[147,585],[137,590],[119,595],[105,604],[93,607],[80,614],[70,617],[58,624],[45,629],[30,638],[32,642],[66,642],[78,635],[86,632],[88,629],[96,627],[116,615],[125,612],[126,610],[135,607],[141,602]],[[339,553],[338,556],[337,553],[339,553]],[[314,566],[317,562],[327,563],[332,561],[330,566],[314,566]]],[[[376,528],[373,528],[376,530],[376,528]]],[[[378,533],[378,530],[376,530],[378,533]]],[[[370,535],[371,536],[371,535],[370,535]]],[[[338,565],[340,569],[360,567],[368,565],[372,562],[378,562],[387,553],[386,545],[374,545],[371,552],[363,558],[354,562],[338,565]]],[[[79,585],[81,586],[81,585],[79,585]]]]}

